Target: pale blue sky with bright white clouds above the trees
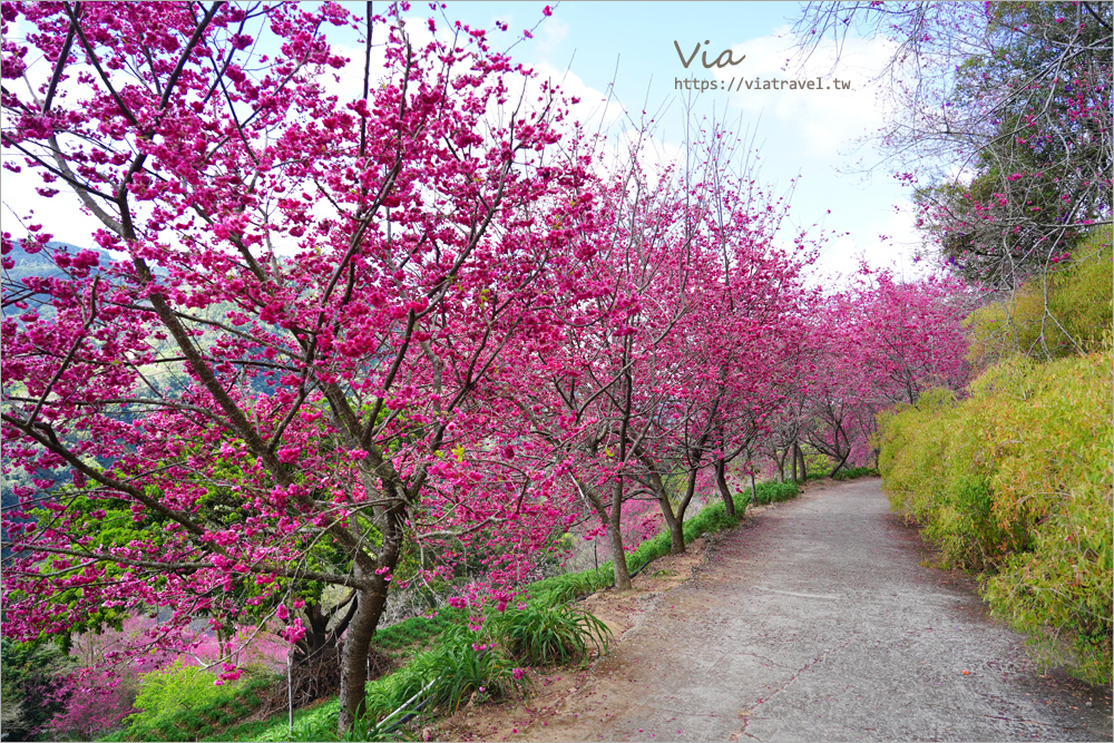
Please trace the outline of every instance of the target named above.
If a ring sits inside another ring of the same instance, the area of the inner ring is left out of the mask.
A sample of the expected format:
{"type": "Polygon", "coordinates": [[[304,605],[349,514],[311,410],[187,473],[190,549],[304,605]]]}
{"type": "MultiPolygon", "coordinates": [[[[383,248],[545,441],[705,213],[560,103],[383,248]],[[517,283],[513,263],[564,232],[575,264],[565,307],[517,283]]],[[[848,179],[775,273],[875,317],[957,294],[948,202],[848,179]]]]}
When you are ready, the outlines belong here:
{"type": "MultiPolygon", "coordinates": [[[[381,6],[375,3],[375,10],[381,6]]],[[[350,8],[362,12],[364,4],[350,8]]],[[[497,20],[507,23],[506,32],[491,36],[495,49],[509,48],[515,61],[559,81],[582,99],[574,111],[577,118],[603,123],[613,134],[633,120],[654,118],[652,144],[663,159],[681,151],[686,107],[697,119],[715,118],[753,136],[759,179],[776,195],[792,187],[786,242],[800,229],[809,229],[813,237],[827,235],[819,262],[825,274],[851,273],[866,260],[910,275],[920,245],[910,193],[863,141],[885,117],[879,97],[885,89],[873,80],[891,49],[881,39],[852,39],[838,63],[832,50],[821,46],[802,68],[791,30],[800,8],[792,2],[469,1],[446,2],[437,16],[488,29],[497,20]],[[532,29],[531,39],[524,38],[526,29],[532,29]],[[694,50],[698,50],[695,56],[694,50]],[[737,63],[727,65],[724,55],[737,63]],[[720,59],[724,67],[706,69],[704,59],[720,59]],[[686,79],[709,87],[714,81],[717,89],[678,90],[686,79]],[[822,89],[759,90],[755,79],[819,80],[822,89]],[[849,82],[849,88],[837,89],[837,79],[849,82]],[[744,80],[752,89],[742,86],[744,80]]],[[[428,4],[414,3],[405,14],[413,20],[408,32],[428,33],[421,19],[429,14],[428,4]]],[[[447,25],[439,21],[439,27],[447,25]]],[[[334,43],[350,46],[351,57],[359,59],[354,32],[335,37],[334,43]]],[[[359,65],[353,61],[351,67],[348,75],[354,79],[359,65]]],[[[2,178],[2,217],[8,225],[14,214],[33,206],[30,186],[37,184],[8,172],[2,178]]],[[[95,225],[79,214],[76,197],[59,196],[39,205],[39,216],[46,208],[51,216],[65,217],[49,221],[57,239],[90,243],[95,225]]]]}

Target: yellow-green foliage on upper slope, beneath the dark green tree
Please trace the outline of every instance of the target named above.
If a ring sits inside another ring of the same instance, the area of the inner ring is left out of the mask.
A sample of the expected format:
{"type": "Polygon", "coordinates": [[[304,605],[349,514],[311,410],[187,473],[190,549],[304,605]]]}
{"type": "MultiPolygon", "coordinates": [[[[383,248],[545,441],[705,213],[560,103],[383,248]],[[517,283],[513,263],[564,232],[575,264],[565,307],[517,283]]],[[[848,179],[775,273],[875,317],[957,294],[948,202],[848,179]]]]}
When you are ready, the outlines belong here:
{"type": "Polygon", "coordinates": [[[1114,322],[1112,299],[1111,227],[1105,226],[1076,245],[1062,268],[971,313],[965,321],[970,360],[983,368],[1014,353],[1043,360],[1100,351],[1114,322]]]}

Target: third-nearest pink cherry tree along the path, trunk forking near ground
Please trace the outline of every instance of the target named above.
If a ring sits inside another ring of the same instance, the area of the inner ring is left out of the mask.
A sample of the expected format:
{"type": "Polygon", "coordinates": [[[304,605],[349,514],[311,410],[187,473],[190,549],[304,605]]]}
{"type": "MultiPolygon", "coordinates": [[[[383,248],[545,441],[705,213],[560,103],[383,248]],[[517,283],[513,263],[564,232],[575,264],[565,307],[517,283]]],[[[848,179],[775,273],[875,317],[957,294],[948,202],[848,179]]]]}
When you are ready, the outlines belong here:
{"type": "Polygon", "coordinates": [[[701,172],[684,188],[686,245],[701,271],[692,280],[692,311],[671,345],[676,366],[686,370],[672,418],[659,419],[672,431],[672,450],[644,458],[674,554],[684,551],[684,517],[697,483],[716,488],[734,515],[727,462],[768,430],[805,338],[805,235],[794,236],[789,250],[776,247],[786,204],[768,197],[747,169],[726,172],[723,133],[709,139],[701,172]],[[701,479],[709,469],[714,483],[701,479]],[[662,487],[668,476],[684,482],[675,498],[662,487]]]}

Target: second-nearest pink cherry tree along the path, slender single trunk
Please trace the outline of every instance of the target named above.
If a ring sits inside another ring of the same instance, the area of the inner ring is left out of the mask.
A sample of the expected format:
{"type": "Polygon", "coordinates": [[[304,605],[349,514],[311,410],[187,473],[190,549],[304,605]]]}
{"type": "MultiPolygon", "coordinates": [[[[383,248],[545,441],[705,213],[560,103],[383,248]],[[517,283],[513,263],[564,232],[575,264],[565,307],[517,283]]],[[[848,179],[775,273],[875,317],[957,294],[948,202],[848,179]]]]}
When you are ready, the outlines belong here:
{"type": "Polygon", "coordinates": [[[606,535],[623,590],[631,588],[623,504],[653,498],[636,470],[661,446],[654,422],[678,394],[667,346],[691,311],[685,286],[693,267],[677,228],[677,193],[667,175],[644,172],[637,146],[604,183],[597,232],[574,250],[576,283],[555,307],[563,339],[535,345],[534,371],[518,384],[530,436],[553,449],[564,487],[595,515],[598,526],[587,536],[606,535]]]}

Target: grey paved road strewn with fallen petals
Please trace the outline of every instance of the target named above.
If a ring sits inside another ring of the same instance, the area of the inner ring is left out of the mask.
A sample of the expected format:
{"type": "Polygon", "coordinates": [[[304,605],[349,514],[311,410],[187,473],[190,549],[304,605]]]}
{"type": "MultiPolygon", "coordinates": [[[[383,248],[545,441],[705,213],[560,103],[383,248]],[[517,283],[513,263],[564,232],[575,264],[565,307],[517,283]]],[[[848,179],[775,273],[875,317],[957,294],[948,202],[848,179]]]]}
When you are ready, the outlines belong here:
{"type": "MultiPolygon", "coordinates": [[[[811,491],[658,596],[532,740],[1111,741],[1110,690],[1040,675],[877,479],[811,491]],[[1089,706],[1088,706],[1089,704],[1089,706]],[[588,721],[592,721],[588,723],[588,721]]],[[[516,731],[518,732],[518,731],[516,731]]]]}

